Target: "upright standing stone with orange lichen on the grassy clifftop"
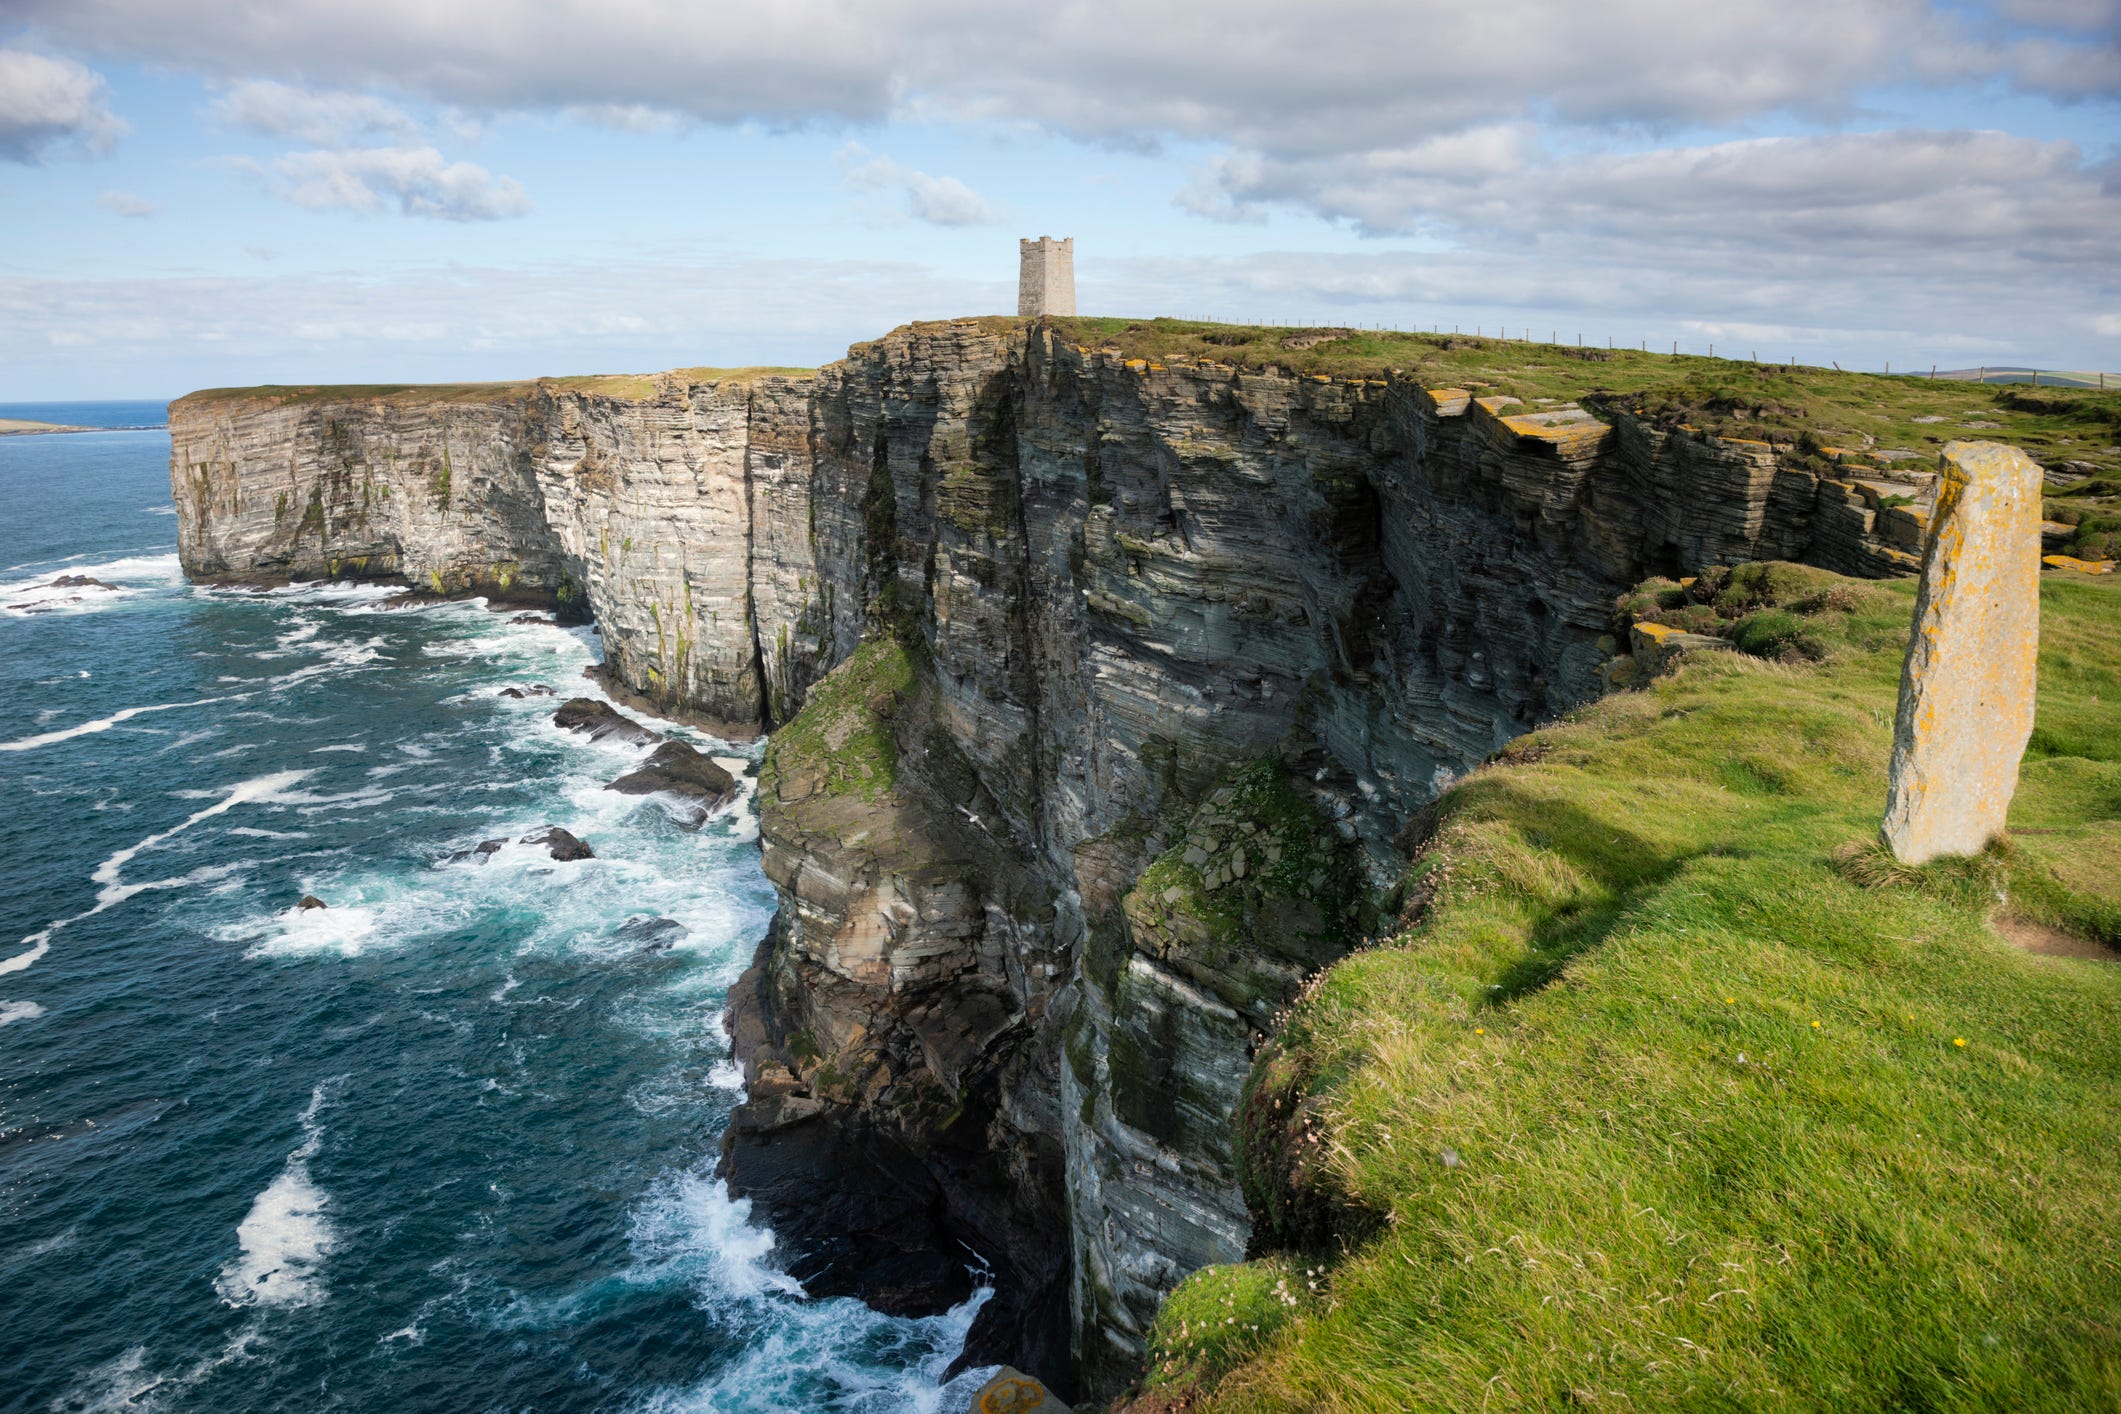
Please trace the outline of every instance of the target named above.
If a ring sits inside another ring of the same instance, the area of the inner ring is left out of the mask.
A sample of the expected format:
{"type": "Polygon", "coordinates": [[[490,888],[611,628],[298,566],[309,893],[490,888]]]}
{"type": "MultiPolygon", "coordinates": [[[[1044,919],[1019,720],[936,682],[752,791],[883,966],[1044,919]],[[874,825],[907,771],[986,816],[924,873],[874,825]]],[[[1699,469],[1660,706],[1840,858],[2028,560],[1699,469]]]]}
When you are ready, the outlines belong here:
{"type": "Polygon", "coordinates": [[[2040,469],[1994,441],[1947,443],[1941,469],[1881,831],[1909,865],[2002,833],[2040,653],[2040,469]]]}

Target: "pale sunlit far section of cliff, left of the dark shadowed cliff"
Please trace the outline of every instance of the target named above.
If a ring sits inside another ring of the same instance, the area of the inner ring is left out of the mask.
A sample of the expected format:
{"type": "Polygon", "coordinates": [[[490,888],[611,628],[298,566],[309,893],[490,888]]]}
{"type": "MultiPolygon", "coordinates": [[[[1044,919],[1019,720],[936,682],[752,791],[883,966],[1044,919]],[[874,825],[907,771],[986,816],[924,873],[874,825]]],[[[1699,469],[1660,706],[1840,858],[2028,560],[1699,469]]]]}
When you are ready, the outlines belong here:
{"type": "Polygon", "coordinates": [[[613,687],[736,736],[819,672],[808,379],[195,394],[170,430],[195,579],[588,613],[613,687]]]}

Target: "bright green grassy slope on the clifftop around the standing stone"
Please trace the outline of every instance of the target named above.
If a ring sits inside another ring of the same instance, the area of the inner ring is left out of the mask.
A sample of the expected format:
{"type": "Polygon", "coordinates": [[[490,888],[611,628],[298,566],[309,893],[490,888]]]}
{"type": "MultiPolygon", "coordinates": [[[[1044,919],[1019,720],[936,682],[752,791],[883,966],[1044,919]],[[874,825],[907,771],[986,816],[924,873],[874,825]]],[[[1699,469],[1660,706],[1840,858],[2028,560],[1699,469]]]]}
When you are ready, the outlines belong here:
{"type": "Polygon", "coordinates": [[[1985,926],[2004,886],[2121,941],[2121,585],[2043,583],[2051,833],[1877,888],[1835,850],[1911,585],[1854,604],[1824,664],[1697,655],[1444,797],[1423,922],[1247,1100],[1377,1236],[1198,1274],[1141,1408],[2121,1408],[2121,965],[1985,926]]]}

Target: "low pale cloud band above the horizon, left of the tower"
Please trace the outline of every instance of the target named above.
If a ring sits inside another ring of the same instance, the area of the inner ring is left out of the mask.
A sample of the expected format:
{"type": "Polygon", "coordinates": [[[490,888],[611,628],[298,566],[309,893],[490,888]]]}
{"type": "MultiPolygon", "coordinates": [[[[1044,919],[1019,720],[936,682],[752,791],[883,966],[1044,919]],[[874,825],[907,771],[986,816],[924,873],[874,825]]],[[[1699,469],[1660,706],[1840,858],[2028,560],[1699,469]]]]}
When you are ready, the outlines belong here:
{"type": "Polygon", "coordinates": [[[0,276],[0,384],[19,396],[259,382],[467,379],[810,365],[912,318],[1003,312],[993,280],[887,261],[594,261],[522,269],[0,276]]]}

